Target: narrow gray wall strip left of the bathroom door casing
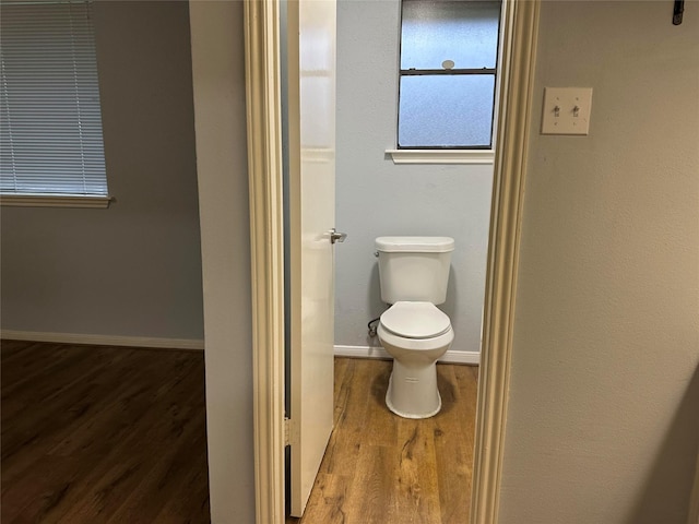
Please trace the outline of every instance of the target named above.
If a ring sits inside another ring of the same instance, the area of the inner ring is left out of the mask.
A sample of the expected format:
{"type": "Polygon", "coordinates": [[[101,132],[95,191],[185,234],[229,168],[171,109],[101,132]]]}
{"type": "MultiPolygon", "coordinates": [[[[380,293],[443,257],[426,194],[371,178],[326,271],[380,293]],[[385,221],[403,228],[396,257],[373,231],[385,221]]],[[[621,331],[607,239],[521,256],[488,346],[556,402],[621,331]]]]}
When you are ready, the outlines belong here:
{"type": "Polygon", "coordinates": [[[254,522],[242,2],[190,2],[214,524],[254,522]]]}

